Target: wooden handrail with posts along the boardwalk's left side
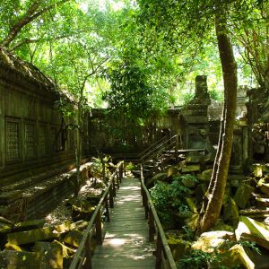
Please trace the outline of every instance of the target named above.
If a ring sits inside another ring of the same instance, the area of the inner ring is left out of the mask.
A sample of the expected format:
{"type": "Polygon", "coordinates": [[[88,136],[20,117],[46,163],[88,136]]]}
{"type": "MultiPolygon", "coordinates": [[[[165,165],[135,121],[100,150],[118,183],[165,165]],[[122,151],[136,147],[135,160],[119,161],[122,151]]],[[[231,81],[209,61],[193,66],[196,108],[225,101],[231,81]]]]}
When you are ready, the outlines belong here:
{"type": "Polygon", "coordinates": [[[116,184],[117,184],[117,187],[119,187],[119,181],[121,181],[121,178],[122,178],[123,163],[124,161],[120,161],[117,164],[117,169],[109,178],[108,187],[106,188],[105,192],[101,196],[100,202],[98,203],[94,213],[92,214],[91,220],[86,230],[84,230],[84,235],[80,242],[80,246],[78,247],[74,255],[74,259],[69,269],[75,269],[75,268],[81,268],[81,267],[84,267],[87,269],[92,268],[91,267],[91,236],[92,236],[93,226],[95,226],[95,230],[96,230],[97,244],[101,245],[102,244],[101,210],[104,205],[106,208],[107,219],[109,221],[108,208],[109,206],[110,207],[114,206],[113,196],[116,195],[116,184]],[[117,182],[115,182],[115,179],[117,180],[117,182]],[[108,199],[109,199],[109,203],[108,203],[108,199]],[[83,264],[82,257],[84,256],[86,257],[86,260],[85,260],[84,265],[82,265],[83,264]]]}

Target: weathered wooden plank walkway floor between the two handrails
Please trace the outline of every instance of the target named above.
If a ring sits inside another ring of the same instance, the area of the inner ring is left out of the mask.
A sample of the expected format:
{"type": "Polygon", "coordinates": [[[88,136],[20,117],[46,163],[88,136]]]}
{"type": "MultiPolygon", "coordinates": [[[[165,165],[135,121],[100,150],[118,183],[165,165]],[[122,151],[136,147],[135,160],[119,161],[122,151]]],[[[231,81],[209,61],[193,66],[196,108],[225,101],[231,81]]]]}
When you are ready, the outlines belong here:
{"type": "Polygon", "coordinates": [[[110,222],[104,225],[103,244],[94,251],[92,268],[154,268],[155,249],[148,241],[138,178],[122,179],[114,205],[110,222]]]}

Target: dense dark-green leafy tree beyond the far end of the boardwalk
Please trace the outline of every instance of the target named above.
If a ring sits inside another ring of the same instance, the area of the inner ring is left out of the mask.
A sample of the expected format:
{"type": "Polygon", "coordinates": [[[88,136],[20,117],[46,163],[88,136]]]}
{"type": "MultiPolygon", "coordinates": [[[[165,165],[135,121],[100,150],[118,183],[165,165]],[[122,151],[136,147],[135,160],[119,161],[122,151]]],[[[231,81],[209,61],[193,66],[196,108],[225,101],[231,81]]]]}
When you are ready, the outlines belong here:
{"type": "Polygon", "coordinates": [[[117,133],[115,136],[121,138],[122,143],[130,143],[139,134],[141,126],[157,111],[153,105],[156,89],[149,82],[147,70],[139,65],[140,61],[134,58],[133,53],[110,64],[106,73],[110,91],[103,96],[109,104],[108,116],[115,122],[112,132],[117,133]]]}

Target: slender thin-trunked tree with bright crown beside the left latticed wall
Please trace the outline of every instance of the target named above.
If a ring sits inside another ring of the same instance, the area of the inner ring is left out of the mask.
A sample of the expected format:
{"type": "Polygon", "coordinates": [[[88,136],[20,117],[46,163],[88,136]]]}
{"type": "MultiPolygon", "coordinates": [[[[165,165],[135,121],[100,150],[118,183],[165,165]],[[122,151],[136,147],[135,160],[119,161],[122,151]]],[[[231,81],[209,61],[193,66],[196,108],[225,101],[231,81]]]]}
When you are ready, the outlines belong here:
{"type": "MultiPolygon", "coordinates": [[[[86,100],[86,85],[100,73],[100,68],[108,58],[102,56],[101,46],[96,51],[93,45],[94,39],[82,39],[81,42],[74,40],[65,40],[54,48],[53,65],[51,65],[51,74],[56,82],[71,92],[74,99],[74,106],[65,110],[67,114],[72,114],[74,124],[72,129],[75,133],[75,158],[76,158],[76,181],[75,193],[77,194],[82,181],[80,175],[80,166],[82,160],[82,140],[87,141],[89,137],[84,130],[84,119],[89,113],[89,105],[86,100]]],[[[97,46],[97,44],[95,44],[97,46]]],[[[65,104],[64,104],[65,105],[65,104]]]]}

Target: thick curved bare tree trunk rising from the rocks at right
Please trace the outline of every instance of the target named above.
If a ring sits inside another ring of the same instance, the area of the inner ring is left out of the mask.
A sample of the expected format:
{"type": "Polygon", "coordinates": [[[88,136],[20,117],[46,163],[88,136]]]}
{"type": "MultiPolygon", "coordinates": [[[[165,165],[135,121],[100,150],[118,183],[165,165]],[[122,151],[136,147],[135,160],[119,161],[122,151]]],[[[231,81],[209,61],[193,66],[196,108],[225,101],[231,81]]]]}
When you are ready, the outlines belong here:
{"type": "Polygon", "coordinates": [[[221,12],[215,16],[215,30],[224,82],[224,108],[221,117],[218,152],[214,161],[210,186],[204,197],[201,221],[197,233],[209,230],[218,220],[221,213],[221,205],[229,171],[233,124],[237,104],[237,67],[228,36],[226,16],[221,12]]]}

